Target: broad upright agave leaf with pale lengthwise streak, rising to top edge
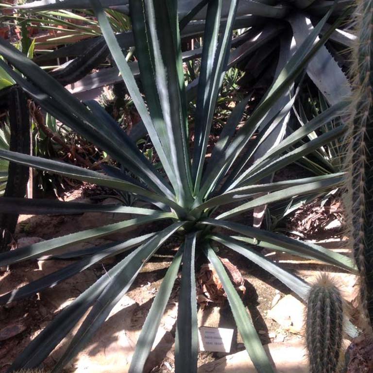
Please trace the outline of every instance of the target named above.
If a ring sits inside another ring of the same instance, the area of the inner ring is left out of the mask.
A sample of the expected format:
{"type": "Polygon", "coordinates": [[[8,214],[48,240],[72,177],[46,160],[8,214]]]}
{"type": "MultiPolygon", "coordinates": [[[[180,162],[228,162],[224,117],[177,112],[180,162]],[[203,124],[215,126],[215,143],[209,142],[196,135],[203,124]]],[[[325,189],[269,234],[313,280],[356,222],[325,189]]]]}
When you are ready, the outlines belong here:
{"type": "MultiPolygon", "coordinates": [[[[168,141],[170,152],[166,155],[174,168],[178,202],[184,206],[191,202],[192,196],[186,136],[186,96],[176,7],[169,1],[163,7],[152,0],[145,0],[143,4],[146,35],[153,55],[154,80],[166,126],[165,141],[168,141]]],[[[162,141],[163,145],[165,141],[162,141]]]]}

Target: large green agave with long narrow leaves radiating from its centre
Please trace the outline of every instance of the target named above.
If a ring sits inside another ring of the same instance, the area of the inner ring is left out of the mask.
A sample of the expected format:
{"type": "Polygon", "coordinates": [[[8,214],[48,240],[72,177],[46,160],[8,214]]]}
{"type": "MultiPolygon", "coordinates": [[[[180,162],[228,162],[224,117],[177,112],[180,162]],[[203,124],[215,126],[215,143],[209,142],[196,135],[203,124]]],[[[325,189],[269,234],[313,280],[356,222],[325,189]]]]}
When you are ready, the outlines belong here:
{"type": "MultiPolygon", "coordinates": [[[[237,124],[249,98],[235,107],[207,162],[208,135],[222,76],[227,68],[238,1],[229,2],[227,17],[221,28],[222,1],[208,3],[201,71],[197,86],[194,136],[190,136],[193,139],[192,152],[189,149],[189,132],[192,131],[189,129],[186,110],[186,87],[176,1],[167,0],[162,7],[157,6],[157,2],[153,0],[130,1],[136,55],[146,103],[100,1],[91,0],[90,3],[82,1],[81,4],[83,4],[81,7],[92,6],[95,11],[102,34],[152,140],[162,168],[156,170],[153,167],[135,143],[121,130],[118,123],[99,104],[79,102],[34,62],[6,41],[0,40],[0,54],[23,76],[1,60],[0,66],[17,84],[22,86],[45,111],[116,159],[127,173],[109,167],[105,167],[105,172],[97,172],[4,150],[0,151],[0,157],[10,162],[132,193],[136,195],[137,200],[149,204],[149,208],[145,208],[1,199],[0,212],[77,214],[90,211],[138,216],[0,254],[0,267],[36,259],[43,255],[53,255],[61,248],[65,248],[67,251],[65,255],[70,258],[84,255],[83,258],[60,271],[1,296],[0,303],[5,304],[54,286],[103,258],[135,248],[64,308],[16,358],[9,372],[40,365],[89,310],[66,352],[53,369],[53,372],[61,371],[102,325],[116,303],[131,287],[145,263],[170,237],[175,237],[179,242],[177,254],[154,298],[136,345],[130,372],[143,371],[181,263],[182,277],[175,337],[176,372],[197,372],[197,302],[194,273],[195,258],[203,255],[211,262],[220,277],[237,322],[237,329],[257,371],[274,372],[247,310],[216,254],[216,246],[224,245],[250,259],[277,277],[305,301],[309,285],[261,255],[258,249],[271,248],[316,259],[347,271],[356,271],[348,257],[313,243],[255,228],[247,224],[243,215],[257,206],[281,201],[290,196],[329,190],[342,182],[343,174],[333,173],[326,176],[258,184],[273,172],[319,149],[345,131],[345,125],[341,123],[322,136],[305,143],[301,142],[312,131],[340,114],[346,104],[341,101],[334,103],[290,136],[275,143],[271,149],[267,149],[267,152],[258,153],[261,145],[271,137],[273,129],[288,116],[298,92],[297,85],[302,78],[302,71],[337,27],[340,20],[317,39],[335,8],[331,8],[313,30],[310,30],[297,51],[292,51],[290,43],[284,40],[276,78],[265,97],[239,129],[237,124]],[[259,127],[263,130],[254,141],[250,141],[259,127]],[[247,202],[243,203],[243,201],[247,202]],[[232,218],[236,221],[231,221],[232,218]],[[165,228],[160,231],[79,252],[68,249],[71,245],[88,238],[124,232],[134,226],[159,220],[163,220],[165,224],[165,228]]],[[[194,8],[192,13],[195,11],[194,8]]],[[[354,334],[353,328],[350,328],[350,333],[354,334]]]]}

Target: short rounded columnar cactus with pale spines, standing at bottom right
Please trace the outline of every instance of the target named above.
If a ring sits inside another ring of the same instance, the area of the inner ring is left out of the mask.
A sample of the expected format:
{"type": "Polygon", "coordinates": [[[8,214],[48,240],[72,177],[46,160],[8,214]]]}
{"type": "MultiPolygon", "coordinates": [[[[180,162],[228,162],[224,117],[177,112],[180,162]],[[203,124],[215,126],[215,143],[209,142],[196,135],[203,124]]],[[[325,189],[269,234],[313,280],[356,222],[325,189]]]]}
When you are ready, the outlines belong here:
{"type": "Polygon", "coordinates": [[[322,275],[308,295],[305,322],[310,373],[335,373],[343,337],[343,299],[338,288],[322,275]]]}

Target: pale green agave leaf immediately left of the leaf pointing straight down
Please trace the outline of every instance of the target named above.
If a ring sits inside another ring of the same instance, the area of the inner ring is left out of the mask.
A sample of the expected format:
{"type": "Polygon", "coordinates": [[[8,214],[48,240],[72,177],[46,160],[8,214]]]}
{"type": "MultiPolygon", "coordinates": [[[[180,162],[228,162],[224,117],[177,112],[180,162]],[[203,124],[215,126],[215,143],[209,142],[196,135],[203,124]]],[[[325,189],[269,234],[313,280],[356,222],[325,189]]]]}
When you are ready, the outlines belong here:
{"type": "Polygon", "coordinates": [[[129,373],[142,373],[144,370],[144,365],[152,349],[159,323],[170,299],[171,290],[179,271],[182,253],[182,249],[179,249],[176,253],[153,300],[152,307],[136,342],[136,349],[132,356],[129,373]]]}

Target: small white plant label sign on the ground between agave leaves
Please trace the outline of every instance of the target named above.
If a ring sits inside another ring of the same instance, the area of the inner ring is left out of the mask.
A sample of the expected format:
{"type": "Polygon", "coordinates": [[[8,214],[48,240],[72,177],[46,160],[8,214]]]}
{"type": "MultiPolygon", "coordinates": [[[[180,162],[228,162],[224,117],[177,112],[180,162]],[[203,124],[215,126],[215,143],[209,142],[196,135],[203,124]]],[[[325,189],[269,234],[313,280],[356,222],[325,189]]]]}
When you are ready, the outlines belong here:
{"type": "Polygon", "coordinates": [[[201,326],[198,337],[201,351],[230,352],[233,329],[201,326]]]}

